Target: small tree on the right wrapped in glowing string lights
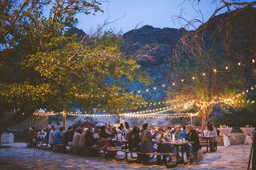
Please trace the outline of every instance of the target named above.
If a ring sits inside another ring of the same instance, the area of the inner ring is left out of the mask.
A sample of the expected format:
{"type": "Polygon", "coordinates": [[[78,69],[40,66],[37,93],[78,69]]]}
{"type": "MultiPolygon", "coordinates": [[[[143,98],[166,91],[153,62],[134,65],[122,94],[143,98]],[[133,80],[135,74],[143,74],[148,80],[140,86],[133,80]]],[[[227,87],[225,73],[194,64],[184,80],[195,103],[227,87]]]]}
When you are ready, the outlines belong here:
{"type": "Polygon", "coordinates": [[[173,85],[169,88],[167,101],[176,105],[178,112],[198,111],[203,130],[213,107],[221,107],[227,113],[231,107],[236,110],[244,107],[254,109],[253,101],[246,95],[248,74],[242,67],[231,72],[217,53],[205,52],[204,57],[198,60],[170,59],[169,65],[170,84],[173,85]]]}

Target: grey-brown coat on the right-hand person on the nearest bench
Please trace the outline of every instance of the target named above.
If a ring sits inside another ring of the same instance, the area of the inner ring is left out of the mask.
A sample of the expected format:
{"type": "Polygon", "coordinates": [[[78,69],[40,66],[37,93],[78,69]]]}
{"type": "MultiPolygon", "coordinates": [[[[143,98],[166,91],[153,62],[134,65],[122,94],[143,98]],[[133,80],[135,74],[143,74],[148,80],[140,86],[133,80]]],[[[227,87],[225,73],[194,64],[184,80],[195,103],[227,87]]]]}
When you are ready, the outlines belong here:
{"type": "Polygon", "coordinates": [[[154,152],[154,147],[152,144],[152,139],[156,138],[157,133],[152,134],[150,131],[144,130],[140,134],[140,139],[142,140],[142,145],[140,146],[140,151],[142,153],[152,153],[154,152]]]}

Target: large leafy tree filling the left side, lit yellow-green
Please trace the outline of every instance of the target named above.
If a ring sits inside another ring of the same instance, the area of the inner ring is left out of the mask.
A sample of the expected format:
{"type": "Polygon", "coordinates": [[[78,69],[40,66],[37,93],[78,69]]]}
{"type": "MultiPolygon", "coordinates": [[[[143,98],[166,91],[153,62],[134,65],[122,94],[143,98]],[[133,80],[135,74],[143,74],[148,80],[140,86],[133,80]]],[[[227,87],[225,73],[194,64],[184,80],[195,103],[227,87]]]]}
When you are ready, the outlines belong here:
{"type": "Polygon", "coordinates": [[[99,1],[1,1],[0,132],[39,108],[60,112],[73,107],[118,114],[143,104],[124,91],[123,80],[149,84],[123,39],[100,27],[77,39],[69,30],[77,13],[101,11],[99,1]],[[50,9],[46,16],[44,9],[50,9]]]}

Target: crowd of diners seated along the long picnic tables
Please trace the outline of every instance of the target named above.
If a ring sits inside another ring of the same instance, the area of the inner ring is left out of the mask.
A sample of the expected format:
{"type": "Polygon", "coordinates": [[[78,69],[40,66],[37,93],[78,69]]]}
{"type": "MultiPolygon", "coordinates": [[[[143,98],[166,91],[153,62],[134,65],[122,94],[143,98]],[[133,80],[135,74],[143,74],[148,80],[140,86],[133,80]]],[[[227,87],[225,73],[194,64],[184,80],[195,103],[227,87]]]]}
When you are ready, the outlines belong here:
{"type": "MultiPolygon", "coordinates": [[[[209,124],[210,125],[210,124],[209,124]]],[[[212,124],[211,124],[212,125],[212,124]]],[[[213,130],[215,130],[212,125],[213,130]]],[[[208,126],[211,129],[211,126],[208,126]]],[[[37,137],[37,133],[30,128],[28,131],[28,139],[32,140],[37,137]]],[[[124,147],[122,141],[127,140],[128,147],[130,151],[142,152],[142,153],[177,153],[177,147],[174,145],[161,145],[160,148],[154,146],[153,141],[174,141],[181,142],[183,140],[193,141],[193,144],[185,145],[185,152],[188,164],[192,164],[194,160],[194,155],[199,150],[199,137],[198,132],[192,128],[191,125],[181,126],[176,124],[174,128],[164,126],[149,126],[149,124],[143,124],[143,126],[129,127],[129,125],[122,120],[122,123],[118,128],[113,127],[112,123],[105,124],[104,126],[96,126],[92,128],[91,126],[84,127],[69,127],[67,131],[64,132],[63,127],[56,129],[56,126],[51,126],[48,128],[45,141],[51,146],[56,144],[63,144],[66,146],[73,147],[74,154],[80,154],[81,149],[79,147],[124,147]]],[[[62,149],[61,147],[59,147],[62,149]]],[[[65,149],[66,147],[63,147],[65,149]]],[[[181,148],[178,148],[179,150],[181,148]]],[[[181,159],[180,155],[178,155],[181,159]]],[[[149,164],[149,155],[138,155],[137,162],[143,164],[149,164]]],[[[158,160],[157,164],[166,162],[167,157],[158,160]]],[[[168,161],[172,161],[169,158],[168,161]]],[[[179,160],[177,160],[179,161],[179,160]]]]}

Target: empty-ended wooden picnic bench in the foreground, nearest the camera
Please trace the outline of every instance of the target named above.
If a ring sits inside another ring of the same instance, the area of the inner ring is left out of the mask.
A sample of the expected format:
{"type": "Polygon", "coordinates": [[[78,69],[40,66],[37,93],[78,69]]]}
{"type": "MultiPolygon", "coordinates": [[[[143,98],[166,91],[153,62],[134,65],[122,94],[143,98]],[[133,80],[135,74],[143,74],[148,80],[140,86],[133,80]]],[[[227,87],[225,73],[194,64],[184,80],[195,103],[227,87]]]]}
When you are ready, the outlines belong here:
{"type": "MultiPolygon", "coordinates": [[[[134,153],[134,154],[140,154],[140,155],[163,155],[163,156],[167,156],[167,157],[175,157],[176,159],[177,159],[177,155],[175,154],[175,153],[158,153],[158,152],[152,152],[152,153],[142,153],[142,152],[135,152],[135,151],[128,151],[128,150],[126,150],[126,152],[125,152],[125,158],[126,158],[126,161],[128,162],[128,163],[130,163],[130,162],[134,162],[134,161],[136,161],[136,160],[129,160],[128,159],[128,157],[127,157],[127,154],[128,153],[134,153]]],[[[172,168],[172,167],[176,167],[177,165],[178,165],[178,162],[179,162],[179,160],[176,160],[176,162],[174,163],[174,162],[165,162],[165,166],[167,167],[167,168],[172,168]]]]}

